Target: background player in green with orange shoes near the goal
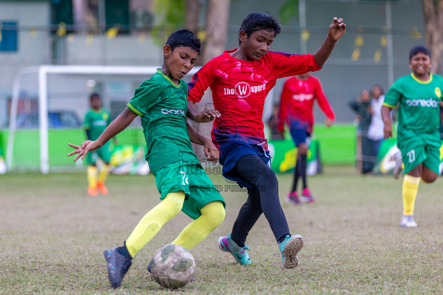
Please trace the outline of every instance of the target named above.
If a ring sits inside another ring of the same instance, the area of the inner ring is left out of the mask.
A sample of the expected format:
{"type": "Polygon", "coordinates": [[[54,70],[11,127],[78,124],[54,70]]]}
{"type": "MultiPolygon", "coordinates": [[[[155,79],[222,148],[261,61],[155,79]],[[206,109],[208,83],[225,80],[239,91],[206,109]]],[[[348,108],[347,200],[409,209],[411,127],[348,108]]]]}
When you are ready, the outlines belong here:
{"type": "MultiPolygon", "coordinates": [[[[83,126],[86,131],[86,138],[88,140],[97,140],[106,127],[111,123],[111,116],[109,111],[102,107],[101,97],[97,93],[90,96],[91,109],[85,115],[85,123],[83,126]]],[[[117,143],[114,138],[114,143],[117,143]]],[[[88,153],[86,155],[86,163],[88,164],[88,194],[97,195],[98,191],[103,194],[108,194],[108,189],[105,186],[105,180],[109,175],[109,161],[111,161],[111,151],[109,150],[109,142],[106,142],[101,148],[88,153]],[[103,165],[101,165],[100,172],[97,171],[97,159],[100,157],[103,165]]]]}

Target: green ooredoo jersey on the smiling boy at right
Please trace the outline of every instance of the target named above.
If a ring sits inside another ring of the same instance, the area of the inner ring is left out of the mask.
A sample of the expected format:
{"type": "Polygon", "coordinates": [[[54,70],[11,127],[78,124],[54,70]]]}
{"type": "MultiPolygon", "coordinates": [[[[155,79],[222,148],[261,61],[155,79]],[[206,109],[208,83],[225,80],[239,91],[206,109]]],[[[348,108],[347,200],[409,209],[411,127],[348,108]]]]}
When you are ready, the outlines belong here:
{"type": "Polygon", "coordinates": [[[398,110],[398,136],[408,136],[413,131],[438,133],[440,121],[439,103],[443,89],[443,78],[432,75],[427,81],[418,80],[413,73],[400,77],[389,88],[383,105],[398,110]]]}

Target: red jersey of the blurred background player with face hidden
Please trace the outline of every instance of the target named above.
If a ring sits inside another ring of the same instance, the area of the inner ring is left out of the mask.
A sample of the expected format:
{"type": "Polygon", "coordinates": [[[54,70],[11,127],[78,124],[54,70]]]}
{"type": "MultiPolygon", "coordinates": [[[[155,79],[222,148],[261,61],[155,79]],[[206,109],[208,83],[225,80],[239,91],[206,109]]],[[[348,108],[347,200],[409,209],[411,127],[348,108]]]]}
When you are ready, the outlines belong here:
{"type": "Polygon", "coordinates": [[[297,77],[291,77],[286,80],[281,92],[277,129],[283,130],[284,123],[287,123],[290,128],[303,128],[307,133],[311,133],[314,125],[315,99],[326,117],[334,120],[334,112],[318,78],[309,76],[306,80],[300,80],[297,77]]]}

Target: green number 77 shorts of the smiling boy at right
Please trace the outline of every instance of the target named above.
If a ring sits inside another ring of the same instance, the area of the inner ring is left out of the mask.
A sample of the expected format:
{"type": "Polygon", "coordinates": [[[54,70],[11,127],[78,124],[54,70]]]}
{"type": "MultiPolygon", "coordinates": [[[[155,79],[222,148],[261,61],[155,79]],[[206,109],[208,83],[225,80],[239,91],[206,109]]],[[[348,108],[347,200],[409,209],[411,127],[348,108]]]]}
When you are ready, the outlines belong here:
{"type": "Polygon", "coordinates": [[[408,133],[408,136],[400,137],[399,135],[397,138],[397,146],[403,157],[404,173],[410,172],[423,163],[425,167],[439,174],[440,147],[442,146],[440,134],[416,134],[411,130],[404,133],[408,133]]]}

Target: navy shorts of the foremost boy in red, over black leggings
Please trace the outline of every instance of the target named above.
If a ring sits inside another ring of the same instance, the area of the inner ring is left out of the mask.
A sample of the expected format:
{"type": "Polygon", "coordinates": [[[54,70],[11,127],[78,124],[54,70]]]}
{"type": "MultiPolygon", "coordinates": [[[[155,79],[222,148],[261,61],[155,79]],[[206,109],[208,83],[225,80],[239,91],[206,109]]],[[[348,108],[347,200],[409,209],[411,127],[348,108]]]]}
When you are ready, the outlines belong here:
{"type": "Polygon", "coordinates": [[[221,150],[220,164],[223,165],[222,174],[229,180],[236,181],[241,188],[251,188],[257,190],[258,188],[248,180],[241,177],[235,165],[241,157],[245,155],[257,155],[269,167],[271,167],[271,157],[269,151],[265,150],[261,145],[249,144],[246,142],[233,142],[225,149],[221,150]]]}

